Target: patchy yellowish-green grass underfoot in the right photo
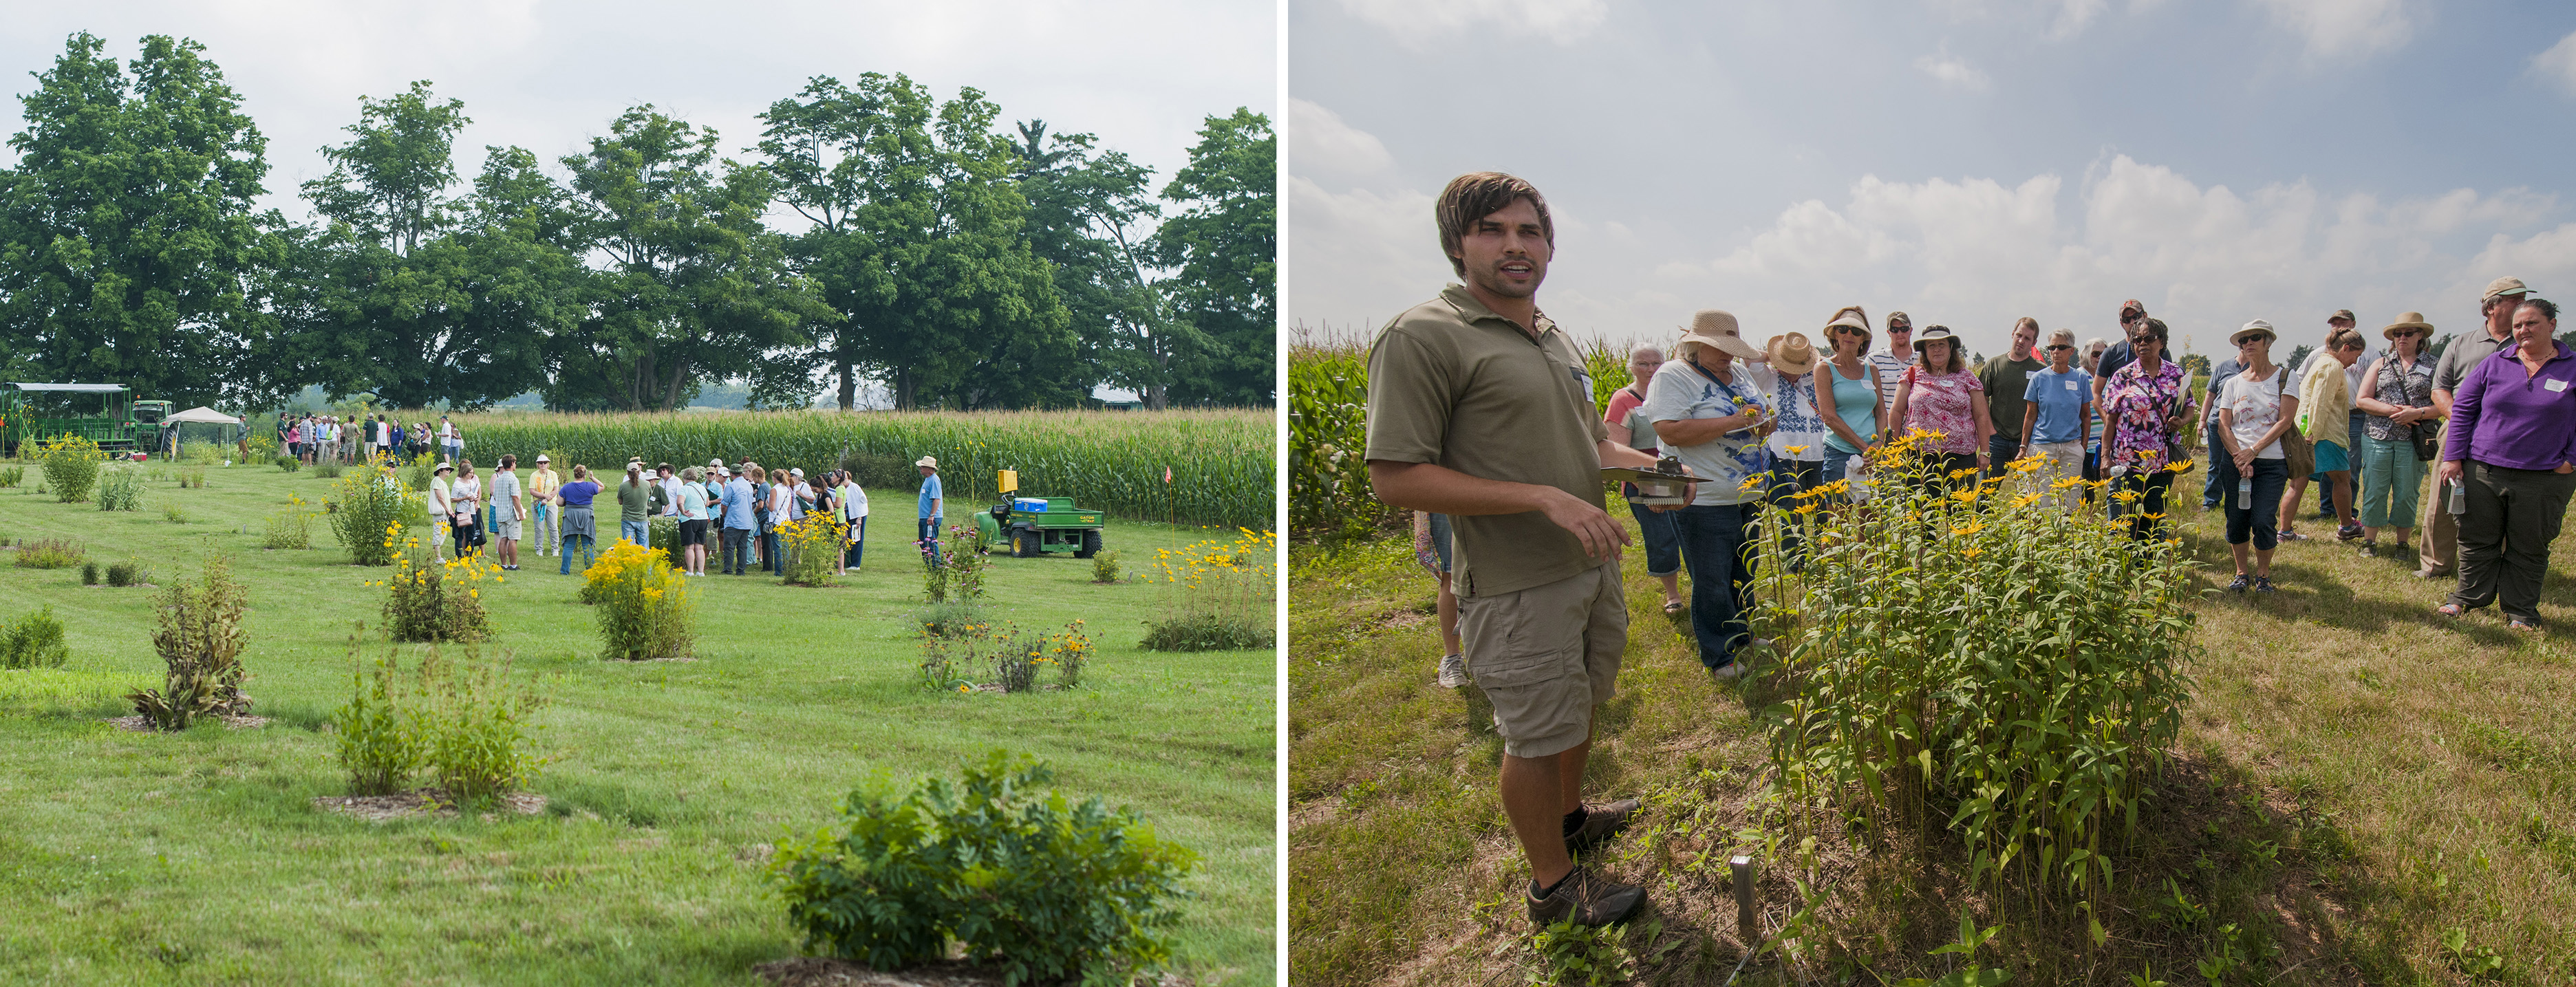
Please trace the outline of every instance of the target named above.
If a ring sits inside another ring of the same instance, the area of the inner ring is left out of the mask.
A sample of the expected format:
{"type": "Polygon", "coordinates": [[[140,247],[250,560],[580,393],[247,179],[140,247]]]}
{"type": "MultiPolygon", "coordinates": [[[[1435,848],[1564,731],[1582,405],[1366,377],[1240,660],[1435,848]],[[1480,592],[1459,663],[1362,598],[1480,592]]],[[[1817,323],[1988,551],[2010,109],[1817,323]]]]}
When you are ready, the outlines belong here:
{"type": "MultiPolygon", "coordinates": [[[[2179,487],[2197,492],[2195,479],[2179,487]]],[[[2197,497],[2177,515],[2205,585],[2226,585],[2223,515],[2197,497]]],[[[2331,523],[2300,528],[2329,539],[2280,549],[2277,595],[2197,606],[2197,691],[2148,835],[2120,861],[2110,943],[2087,953],[2081,917],[2035,930],[2027,907],[1960,892],[1955,840],[1935,835],[1932,866],[1914,866],[1896,861],[1922,856],[1826,835],[1814,871],[1783,848],[1762,879],[1772,925],[1795,905],[1790,876],[1826,892],[1816,915],[1834,956],[1803,964],[1801,982],[1953,972],[1929,948],[1958,935],[1960,912],[2002,923],[1981,959],[2035,984],[2130,984],[2148,964],[2202,984],[2195,966],[2228,951],[2228,923],[2251,969],[2228,984],[2486,982],[2470,972],[2488,951],[2494,982],[2576,979],[2576,526],[2553,546],[2540,637],[2491,608],[2434,616],[2450,580],[2411,577],[2414,551],[2365,559],[2331,523]],[[2166,905],[2166,879],[2210,915],[2166,905]]],[[[1744,804],[1770,771],[1752,716],[1770,685],[1752,698],[1713,685],[1641,551],[1625,580],[1631,649],[1587,791],[1649,809],[1595,863],[1654,899],[1628,938],[1638,982],[1721,984],[1741,956],[1723,853],[1762,822],[1744,804]],[[1646,925],[1662,933],[1649,941],[1646,925]]],[[[1432,685],[1432,595],[1401,536],[1291,549],[1298,984],[1494,984],[1538,969],[1517,894],[1528,868],[1494,796],[1502,742],[1473,685],[1432,685]]],[[[1757,959],[1741,982],[1790,979],[1757,959]]]]}

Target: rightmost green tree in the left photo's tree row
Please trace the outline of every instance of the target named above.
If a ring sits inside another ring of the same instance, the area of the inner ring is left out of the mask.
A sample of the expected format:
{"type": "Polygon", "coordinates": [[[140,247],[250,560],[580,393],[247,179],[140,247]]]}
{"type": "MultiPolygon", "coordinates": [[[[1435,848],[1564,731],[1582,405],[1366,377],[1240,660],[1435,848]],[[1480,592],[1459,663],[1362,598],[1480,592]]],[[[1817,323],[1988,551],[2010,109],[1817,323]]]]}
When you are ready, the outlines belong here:
{"type": "Polygon", "coordinates": [[[1236,108],[1208,116],[1162,198],[1154,260],[1177,271],[1172,307],[1206,338],[1172,379],[1180,405],[1270,405],[1278,361],[1278,137],[1236,108]]]}

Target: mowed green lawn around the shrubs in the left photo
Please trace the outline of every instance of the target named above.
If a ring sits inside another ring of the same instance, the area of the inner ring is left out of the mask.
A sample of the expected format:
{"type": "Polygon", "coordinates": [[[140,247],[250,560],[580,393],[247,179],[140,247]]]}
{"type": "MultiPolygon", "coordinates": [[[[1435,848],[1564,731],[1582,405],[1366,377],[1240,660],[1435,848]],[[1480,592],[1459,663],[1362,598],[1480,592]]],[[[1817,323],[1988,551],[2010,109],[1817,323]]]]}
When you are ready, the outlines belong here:
{"type": "MultiPolygon", "coordinates": [[[[799,953],[762,876],[768,845],[832,822],[873,771],[953,776],[989,747],[1046,758],[1064,791],[1133,807],[1200,853],[1188,977],[1273,977],[1275,657],[1139,652],[1151,585],[1095,585],[1072,557],[994,557],[992,616],[1082,618],[1097,660],[1077,691],[956,696],[912,685],[922,564],[907,490],[868,492],[866,572],[840,588],[690,580],[696,662],[598,660],[580,577],[526,551],[484,603],[495,647],[551,701],[536,714],[546,814],[371,825],[312,799],[345,791],[325,727],[350,693],[350,624],[379,621],[384,590],[361,582],[386,570],[350,567],[322,518],[312,551],[260,549],[289,492],[319,503],[330,482],[211,469],[204,490],[152,482],[144,510],[100,513],[36,495],[39,477],[0,490],[0,539],[77,539],[165,585],[196,577],[206,546],[232,557],[250,588],[245,691],[273,722],[103,724],[131,714],[116,693],[160,683],[155,590],[0,564],[0,618],[52,603],[72,644],[62,673],[0,673],[0,982],[752,984],[755,964],[799,953]],[[188,523],[165,521],[165,503],[188,523]]],[[[1105,541],[1136,570],[1203,536],[1113,521],[1105,541]]]]}

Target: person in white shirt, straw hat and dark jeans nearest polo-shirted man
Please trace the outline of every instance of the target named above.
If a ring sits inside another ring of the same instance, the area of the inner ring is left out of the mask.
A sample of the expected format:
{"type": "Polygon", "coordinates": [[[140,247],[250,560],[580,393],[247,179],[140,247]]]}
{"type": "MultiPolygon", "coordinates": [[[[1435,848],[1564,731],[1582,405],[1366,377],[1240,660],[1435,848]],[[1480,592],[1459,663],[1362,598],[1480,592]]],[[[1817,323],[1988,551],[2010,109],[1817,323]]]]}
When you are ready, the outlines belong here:
{"type": "Polygon", "coordinates": [[[1682,564],[1690,567],[1690,634],[1700,644],[1700,665],[1716,680],[1731,680],[1744,675],[1736,652],[1752,642],[1744,624],[1744,588],[1752,585],[1744,549],[1754,541],[1754,518],[1770,487],[1765,441],[1777,405],[1754,374],[1736,366],[1762,350],[1744,343],[1734,312],[1695,312],[1672,353],[1654,371],[1646,420],[1664,454],[1705,477],[1674,521],[1682,564]]]}

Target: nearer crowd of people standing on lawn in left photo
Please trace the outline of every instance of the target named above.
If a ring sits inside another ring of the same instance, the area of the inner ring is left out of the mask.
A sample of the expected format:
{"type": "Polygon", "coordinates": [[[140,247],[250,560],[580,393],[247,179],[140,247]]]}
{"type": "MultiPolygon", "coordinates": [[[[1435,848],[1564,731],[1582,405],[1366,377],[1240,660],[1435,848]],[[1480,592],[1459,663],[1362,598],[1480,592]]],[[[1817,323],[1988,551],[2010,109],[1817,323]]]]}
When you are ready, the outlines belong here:
{"type": "MultiPolygon", "coordinates": [[[[721,456],[706,466],[652,464],[629,459],[623,477],[595,477],[590,466],[574,464],[569,479],[554,472],[554,459],[538,454],[536,469],[526,479],[518,474],[518,456],[505,454],[489,477],[477,474],[471,459],[438,461],[425,492],[428,510],[440,523],[430,526],[430,554],[446,559],[448,551],[482,554],[505,572],[518,572],[520,541],[536,541],[536,554],[562,557],[559,575],[572,575],[572,559],[582,567],[598,557],[598,510],[616,505],[616,536],[629,544],[652,546],[652,521],[675,523],[675,562],[683,575],[706,575],[708,559],[716,572],[747,575],[762,570],[786,575],[788,546],[783,528],[806,515],[835,515],[848,531],[840,551],[840,570],[858,572],[868,544],[868,492],[848,469],[824,469],[806,477],[801,466],[768,469],[757,461],[726,464],[721,456]]],[[[914,461],[922,474],[917,546],[925,564],[940,564],[940,474],[938,459],[914,461]]]]}

